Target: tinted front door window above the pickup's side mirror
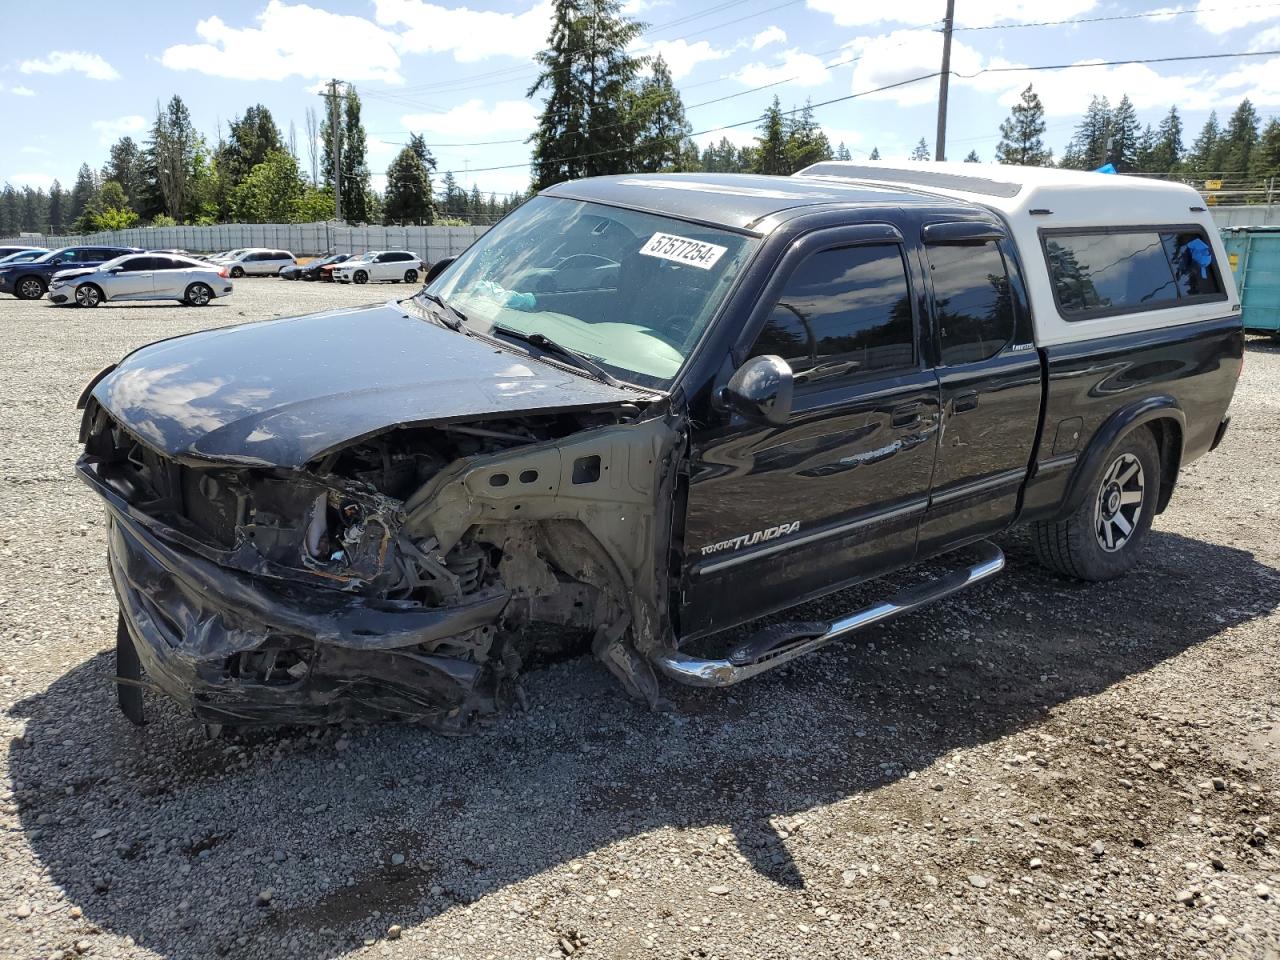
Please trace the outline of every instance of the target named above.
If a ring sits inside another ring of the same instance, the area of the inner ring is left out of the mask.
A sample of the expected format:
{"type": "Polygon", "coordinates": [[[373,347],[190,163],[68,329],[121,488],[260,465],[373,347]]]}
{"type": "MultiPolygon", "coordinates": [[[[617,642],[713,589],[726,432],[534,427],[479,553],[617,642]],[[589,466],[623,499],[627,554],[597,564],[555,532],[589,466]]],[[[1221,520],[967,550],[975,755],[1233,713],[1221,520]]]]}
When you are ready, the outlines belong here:
{"type": "Polygon", "coordinates": [[[751,356],[786,360],[797,383],[884,374],[915,364],[915,324],[895,244],[814,253],[787,280],[751,356]]]}

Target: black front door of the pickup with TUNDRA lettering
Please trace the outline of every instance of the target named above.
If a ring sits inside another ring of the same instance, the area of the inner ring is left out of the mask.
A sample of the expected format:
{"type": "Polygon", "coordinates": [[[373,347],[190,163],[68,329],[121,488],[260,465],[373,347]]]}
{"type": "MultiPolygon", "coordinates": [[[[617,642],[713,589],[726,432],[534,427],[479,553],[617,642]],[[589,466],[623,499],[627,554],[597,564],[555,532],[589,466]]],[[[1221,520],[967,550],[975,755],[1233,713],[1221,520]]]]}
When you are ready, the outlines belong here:
{"type": "Polygon", "coordinates": [[[801,239],[746,356],[795,375],[782,426],[692,434],[680,632],[692,637],[909,563],[928,503],[938,385],[909,260],[887,225],[801,239]],[[858,242],[860,237],[876,237],[858,242]]]}

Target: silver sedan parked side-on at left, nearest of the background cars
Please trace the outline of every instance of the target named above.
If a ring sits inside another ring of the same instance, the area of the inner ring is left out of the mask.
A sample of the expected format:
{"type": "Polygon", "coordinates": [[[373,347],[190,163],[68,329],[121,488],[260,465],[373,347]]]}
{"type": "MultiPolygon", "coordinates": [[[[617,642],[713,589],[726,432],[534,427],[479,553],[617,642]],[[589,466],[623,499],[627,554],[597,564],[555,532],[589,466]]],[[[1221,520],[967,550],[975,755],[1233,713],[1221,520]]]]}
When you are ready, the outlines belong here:
{"type": "Polygon", "coordinates": [[[116,300],[177,300],[202,307],[232,292],[227,268],[174,253],[131,253],[105,264],[54,274],[49,300],[96,307],[116,300]]]}

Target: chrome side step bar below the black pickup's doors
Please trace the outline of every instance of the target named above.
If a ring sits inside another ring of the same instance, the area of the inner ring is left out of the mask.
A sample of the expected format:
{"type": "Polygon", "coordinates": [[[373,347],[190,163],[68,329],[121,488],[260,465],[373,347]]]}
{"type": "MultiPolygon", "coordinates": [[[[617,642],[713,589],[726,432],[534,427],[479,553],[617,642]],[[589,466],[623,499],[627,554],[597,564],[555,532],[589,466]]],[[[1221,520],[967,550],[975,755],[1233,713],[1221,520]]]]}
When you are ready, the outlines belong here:
{"type": "Polygon", "coordinates": [[[777,623],[749,637],[727,658],[704,660],[682,653],[669,653],[654,659],[658,668],[672,680],[690,686],[728,686],[741,680],[790,663],[796,657],[826,646],[873,623],[883,623],[910,613],[934,600],[941,600],[965,588],[988,580],[1005,568],[1005,553],[989,540],[969,548],[978,554],[969,567],[895,594],[887,600],[864,607],[832,623],[777,623]]]}

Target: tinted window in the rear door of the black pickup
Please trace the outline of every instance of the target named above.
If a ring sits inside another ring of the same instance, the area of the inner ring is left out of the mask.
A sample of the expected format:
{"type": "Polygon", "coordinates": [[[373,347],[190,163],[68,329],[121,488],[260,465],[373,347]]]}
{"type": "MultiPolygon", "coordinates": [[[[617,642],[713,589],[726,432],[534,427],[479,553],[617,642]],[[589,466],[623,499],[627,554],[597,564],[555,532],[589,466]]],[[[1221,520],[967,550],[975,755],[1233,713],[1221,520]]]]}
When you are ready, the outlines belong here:
{"type": "Polygon", "coordinates": [[[995,241],[929,246],[942,364],[996,356],[1014,338],[1014,302],[995,241]]]}

